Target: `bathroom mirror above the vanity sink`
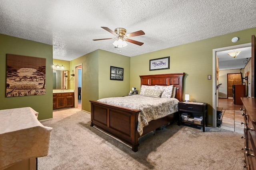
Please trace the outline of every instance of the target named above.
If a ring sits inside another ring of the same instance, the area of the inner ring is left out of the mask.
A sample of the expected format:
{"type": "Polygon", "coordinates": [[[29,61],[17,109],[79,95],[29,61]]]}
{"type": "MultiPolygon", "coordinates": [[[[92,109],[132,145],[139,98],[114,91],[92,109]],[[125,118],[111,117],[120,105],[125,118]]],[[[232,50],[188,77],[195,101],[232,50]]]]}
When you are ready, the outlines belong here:
{"type": "Polygon", "coordinates": [[[53,89],[68,89],[67,70],[53,70],[53,89]]]}

